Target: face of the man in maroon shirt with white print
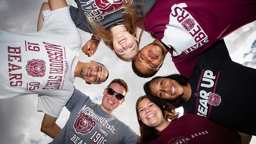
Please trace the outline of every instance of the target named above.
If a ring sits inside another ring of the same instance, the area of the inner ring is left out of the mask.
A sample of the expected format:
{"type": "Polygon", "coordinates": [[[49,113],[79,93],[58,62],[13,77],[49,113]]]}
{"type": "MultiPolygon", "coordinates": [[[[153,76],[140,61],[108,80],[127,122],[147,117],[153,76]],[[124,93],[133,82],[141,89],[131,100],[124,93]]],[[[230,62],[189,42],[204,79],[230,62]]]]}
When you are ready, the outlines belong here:
{"type": "Polygon", "coordinates": [[[158,45],[148,44],[140,49],[134,60],[135,67],[142,74],[152,74],[164,61],[164,49],[158,45]]]}

